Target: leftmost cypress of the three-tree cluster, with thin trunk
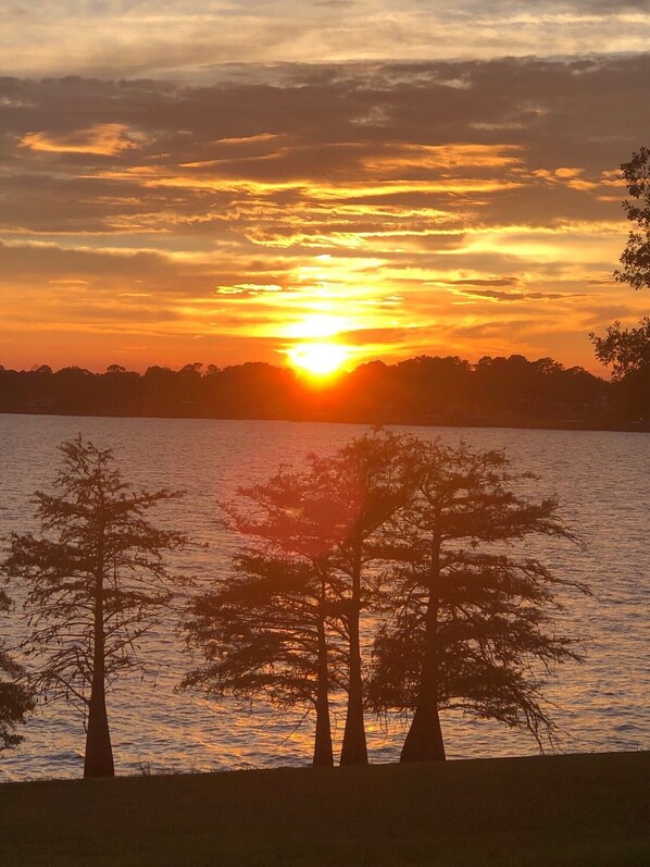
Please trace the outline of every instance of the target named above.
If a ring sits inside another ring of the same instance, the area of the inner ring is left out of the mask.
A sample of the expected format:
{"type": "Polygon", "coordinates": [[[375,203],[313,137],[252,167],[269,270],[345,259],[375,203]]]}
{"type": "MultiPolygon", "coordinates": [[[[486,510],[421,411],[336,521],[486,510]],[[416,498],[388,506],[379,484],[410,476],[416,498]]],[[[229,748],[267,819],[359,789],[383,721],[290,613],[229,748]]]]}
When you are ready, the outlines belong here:
{"type": "Polygon", "coordinates": [[[238,493],[240,500],[224,509],[248,546],[233,571],[191,604],[188,640],[205,662],[182,686],[315,709],[313,764],[332,765],[328,696],[340,652],[332,641],[338,516],[330,492],[309,472],[282,468],[238,493]]]}

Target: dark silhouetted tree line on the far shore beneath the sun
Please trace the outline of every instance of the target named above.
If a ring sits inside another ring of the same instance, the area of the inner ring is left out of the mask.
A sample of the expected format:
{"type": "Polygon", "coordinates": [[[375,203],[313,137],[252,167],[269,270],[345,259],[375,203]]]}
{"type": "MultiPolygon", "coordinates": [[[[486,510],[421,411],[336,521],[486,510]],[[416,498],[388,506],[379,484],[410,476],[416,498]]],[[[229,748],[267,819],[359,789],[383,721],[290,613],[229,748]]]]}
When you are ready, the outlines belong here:
{"type": "Polygon", "coordinates": [[[608,428],[646,418],[645,395],[625,382],[518,355],[475,364],[458,356],[371,361],[317,387],[263,362],[143,374],[41,366],[0,368],[0,412],[608,428]]]}

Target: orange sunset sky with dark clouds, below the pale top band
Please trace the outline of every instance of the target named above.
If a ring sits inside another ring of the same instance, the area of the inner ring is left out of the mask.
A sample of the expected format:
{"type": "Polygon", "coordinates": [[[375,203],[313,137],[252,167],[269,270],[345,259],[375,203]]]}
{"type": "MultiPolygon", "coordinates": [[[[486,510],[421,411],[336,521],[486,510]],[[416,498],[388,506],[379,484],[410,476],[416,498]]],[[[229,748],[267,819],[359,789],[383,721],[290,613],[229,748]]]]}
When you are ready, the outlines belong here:
{"type": "Polygon", "coordinates": [[[0,363],[593,369],[589,331],[642,312],[612,271],[649,82],[650,55],[0,79],[0,363]]]}

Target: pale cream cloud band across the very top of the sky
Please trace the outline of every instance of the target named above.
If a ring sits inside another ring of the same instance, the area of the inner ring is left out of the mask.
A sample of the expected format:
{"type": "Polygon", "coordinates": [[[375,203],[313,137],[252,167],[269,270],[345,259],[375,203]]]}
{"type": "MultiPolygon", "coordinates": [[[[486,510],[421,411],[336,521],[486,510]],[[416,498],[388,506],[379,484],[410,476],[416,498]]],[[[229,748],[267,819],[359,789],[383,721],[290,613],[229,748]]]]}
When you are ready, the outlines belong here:
{"type": "Polygon", "coordinates": [[[148,0],[13,4],[8,74],[208,80],[248,62],[480,59],[642,51],[646,0],[148,0]]]}

